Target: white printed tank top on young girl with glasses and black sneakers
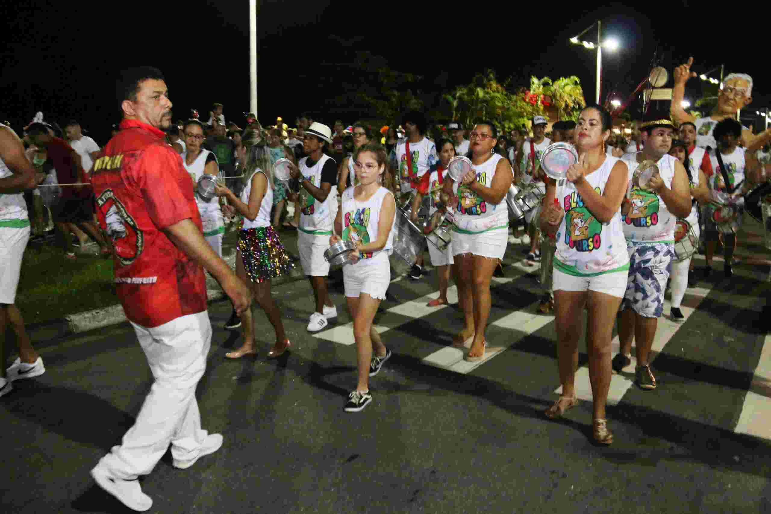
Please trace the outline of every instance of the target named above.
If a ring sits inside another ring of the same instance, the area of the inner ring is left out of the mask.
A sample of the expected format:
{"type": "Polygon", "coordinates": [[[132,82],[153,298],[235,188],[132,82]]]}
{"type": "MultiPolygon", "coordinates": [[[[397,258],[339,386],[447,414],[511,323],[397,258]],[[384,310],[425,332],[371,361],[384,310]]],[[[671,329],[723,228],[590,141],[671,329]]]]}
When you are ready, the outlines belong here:
{"type": "MultiPolygon", "coordinates": [[[[378,228],[380,223],[380,210],[385,197],[389,197],[391,202],[393,193],[383,186],[375,191],[375,194],[366,202],[359,202],[353,196],[355,187],[348,187],[342,193],[342,239],[350,241],[362,241],[367,244],[378,238],[378,228]]],[[[396,207],[396,203],[394,203],[396,207]]],[[[394,222],[396,223],[396,212],[394,212],[394,222]]],[[[388,259],[389,250],[393,246],[393,223],[389,232],[385,247],[376,252],[365,252],[361,254],[361,260],[354,264],[355,267],[366,266],[379,262],[380,258],[388,259]],[[382,257],[380,255],[382,254],[382,257]],[[380,257],[380,258],[378,258],[380,257]]]]}

